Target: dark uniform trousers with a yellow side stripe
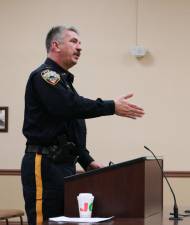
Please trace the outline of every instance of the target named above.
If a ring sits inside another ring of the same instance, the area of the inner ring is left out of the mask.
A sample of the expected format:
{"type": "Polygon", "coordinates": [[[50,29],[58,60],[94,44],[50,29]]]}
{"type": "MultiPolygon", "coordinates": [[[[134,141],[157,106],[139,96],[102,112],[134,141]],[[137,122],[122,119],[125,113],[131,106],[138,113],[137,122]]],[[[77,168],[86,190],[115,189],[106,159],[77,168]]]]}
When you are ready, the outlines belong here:
{"type": "Polygon", "coordinates": [[[55,164],[47,155],[25,153],[21,179],[29,225],[64,214],[64,177],[75,172],[73,163],[55,164]]]}

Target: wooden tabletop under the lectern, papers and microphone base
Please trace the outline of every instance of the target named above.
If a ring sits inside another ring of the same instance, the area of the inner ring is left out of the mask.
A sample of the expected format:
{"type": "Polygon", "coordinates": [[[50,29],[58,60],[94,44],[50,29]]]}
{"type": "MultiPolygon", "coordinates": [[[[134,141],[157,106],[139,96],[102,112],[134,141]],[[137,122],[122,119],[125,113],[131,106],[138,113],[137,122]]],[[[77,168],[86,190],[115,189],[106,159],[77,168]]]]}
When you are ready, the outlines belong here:
{"type": "MultiPolygon", "coordinates": [[[[169,211],[165,210],[163,215],[157,214],[148,218],[114,218],[112,220],[96,223],[100,225],[190,225],[190,217],[184,217],[183,220],[169,220],[169,211]]],[[[92,223],[56,223],[44,222],[43,225],[91,225],[92,223]]],[[[95,223],[93,223],[95,225],[95,223]]]]}

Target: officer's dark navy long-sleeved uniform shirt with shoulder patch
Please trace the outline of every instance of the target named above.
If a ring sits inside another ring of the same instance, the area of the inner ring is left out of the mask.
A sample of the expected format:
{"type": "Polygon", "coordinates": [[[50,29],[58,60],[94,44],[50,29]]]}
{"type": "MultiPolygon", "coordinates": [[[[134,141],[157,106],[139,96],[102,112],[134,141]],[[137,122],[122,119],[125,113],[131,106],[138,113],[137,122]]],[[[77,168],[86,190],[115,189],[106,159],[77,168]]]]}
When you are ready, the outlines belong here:
{"type": "Polygon", "coordinates": [[[23,134],[27,144],[48,146],[65,134],[79,153],[79,163],[86,168],[93,158],[86,149],[84,119],[115,113],[114,101],[91,100],[76,92],[74,76],[47,58],[28,79],[25,93],[23,134]]]}

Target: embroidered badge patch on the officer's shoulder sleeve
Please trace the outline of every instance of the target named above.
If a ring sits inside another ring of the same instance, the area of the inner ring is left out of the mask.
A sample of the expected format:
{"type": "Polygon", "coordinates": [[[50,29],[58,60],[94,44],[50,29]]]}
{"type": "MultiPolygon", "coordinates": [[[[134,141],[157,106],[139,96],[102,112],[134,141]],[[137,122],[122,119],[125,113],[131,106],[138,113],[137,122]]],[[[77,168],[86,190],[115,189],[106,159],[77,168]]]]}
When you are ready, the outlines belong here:
{"type": "Polygon", "coordinates": [[[60,80],[60,75],[52,70],[43,70],[41,72],[42,78],[51,85],[56,85],[60,80]]]}

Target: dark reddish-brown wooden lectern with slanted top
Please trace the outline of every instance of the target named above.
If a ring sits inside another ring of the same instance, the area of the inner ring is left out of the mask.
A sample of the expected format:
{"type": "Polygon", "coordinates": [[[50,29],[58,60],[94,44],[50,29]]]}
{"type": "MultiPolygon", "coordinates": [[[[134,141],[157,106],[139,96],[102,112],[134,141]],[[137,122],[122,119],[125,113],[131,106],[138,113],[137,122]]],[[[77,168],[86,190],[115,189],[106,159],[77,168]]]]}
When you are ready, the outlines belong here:
{"type": "Polygon", "coordinates": [[[67,177],[65,216],[79,216],[79,193],[94,195],[94,217],[149,217],[163,209],[162,172],[156,160],[142,157],[67,177]]]}

